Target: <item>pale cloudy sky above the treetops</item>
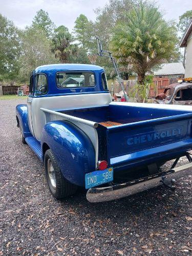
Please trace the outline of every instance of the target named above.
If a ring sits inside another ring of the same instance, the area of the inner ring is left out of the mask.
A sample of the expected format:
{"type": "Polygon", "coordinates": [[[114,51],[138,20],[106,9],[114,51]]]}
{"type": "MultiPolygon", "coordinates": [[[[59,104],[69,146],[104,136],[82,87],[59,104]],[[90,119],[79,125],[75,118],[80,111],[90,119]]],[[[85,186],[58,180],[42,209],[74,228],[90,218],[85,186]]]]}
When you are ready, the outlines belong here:
{"type": "MultiPolygon", "coordinates": [[[[24,29],[30,26],[39,9],[49,13],[56,26],[65,25],[72,31],[79,14],[95,19],[94,9],[103,7],[108,0],[0,0],[0,13],[24,29]]],[[[185,11],[192,9],[192,0],[156,1],[165,13],[165,19],[178,20],[185,11]]]]}

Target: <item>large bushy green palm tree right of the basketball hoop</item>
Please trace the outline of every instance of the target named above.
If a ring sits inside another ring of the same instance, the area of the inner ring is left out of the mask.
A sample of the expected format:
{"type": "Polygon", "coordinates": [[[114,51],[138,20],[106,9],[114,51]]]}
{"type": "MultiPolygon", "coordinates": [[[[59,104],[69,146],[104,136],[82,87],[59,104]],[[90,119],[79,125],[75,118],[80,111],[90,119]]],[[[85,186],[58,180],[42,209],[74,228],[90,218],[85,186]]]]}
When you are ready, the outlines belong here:
{"type": "Polygon", "coordinates": [[[130,65],[143,84],[145,74],[173,56],[177,42],[172,22],[165,22],[154,4],[135,4],[114,29],[111,49],[120,63],[130,65]]]}

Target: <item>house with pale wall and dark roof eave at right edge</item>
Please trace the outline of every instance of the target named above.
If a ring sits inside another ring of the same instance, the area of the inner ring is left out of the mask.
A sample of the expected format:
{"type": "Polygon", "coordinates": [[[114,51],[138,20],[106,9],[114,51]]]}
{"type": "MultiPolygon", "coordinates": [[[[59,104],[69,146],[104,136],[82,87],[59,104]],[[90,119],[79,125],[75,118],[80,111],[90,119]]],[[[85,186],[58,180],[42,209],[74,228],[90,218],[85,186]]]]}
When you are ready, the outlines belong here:
{"type": "Polygon", "coordinates": [[[185,77],[192,77],[192,20],[181,40],[180,47],[186,47],[185,77]]]}

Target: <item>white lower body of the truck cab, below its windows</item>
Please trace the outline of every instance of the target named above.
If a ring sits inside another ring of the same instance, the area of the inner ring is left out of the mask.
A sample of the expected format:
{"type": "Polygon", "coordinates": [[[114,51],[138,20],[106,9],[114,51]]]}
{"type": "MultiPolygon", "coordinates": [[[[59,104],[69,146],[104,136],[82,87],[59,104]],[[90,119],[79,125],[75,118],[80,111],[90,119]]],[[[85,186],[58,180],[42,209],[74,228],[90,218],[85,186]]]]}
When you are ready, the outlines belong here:
{"type": "MultiPolygon", "coordinates": [[[[33,98],[31,103],[31,114],[34,136],[37,140],[40,141],[42,127],[44,127],[46,123],[45,114],[40,110],[40,108],[45,108],[49,110],[70,110],[78,108],[88,108],[91,106],[108,105],[111,101],[112,98],[110,93],[33,98]]],[[[57,120],[59,120],[58,117],[57,120]]],[[[95,144],[94,147],[96,147],[95,144]]]]}

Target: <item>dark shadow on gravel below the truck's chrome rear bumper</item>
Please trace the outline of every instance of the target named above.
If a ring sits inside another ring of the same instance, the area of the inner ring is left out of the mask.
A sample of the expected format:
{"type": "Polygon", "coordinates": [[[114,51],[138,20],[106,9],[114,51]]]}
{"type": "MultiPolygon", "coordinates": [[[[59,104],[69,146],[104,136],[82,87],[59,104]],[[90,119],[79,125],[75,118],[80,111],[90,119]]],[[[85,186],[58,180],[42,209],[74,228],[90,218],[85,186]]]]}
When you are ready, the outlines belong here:
{"type": "Polygon", "coordinates": [[[166,227],[166,221],[183,215],[184,198],[182,190],[169,191],[164,187],[154,188],[142,193],[115,201],[90,203],[85,192],[61,202],[63,209],[69,205],[81,218],[89,216],[92,222],[126,223],[129,226],[140,225],[147,228],[166,227]]]}

